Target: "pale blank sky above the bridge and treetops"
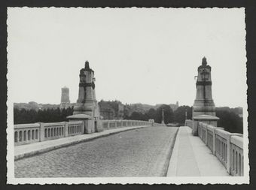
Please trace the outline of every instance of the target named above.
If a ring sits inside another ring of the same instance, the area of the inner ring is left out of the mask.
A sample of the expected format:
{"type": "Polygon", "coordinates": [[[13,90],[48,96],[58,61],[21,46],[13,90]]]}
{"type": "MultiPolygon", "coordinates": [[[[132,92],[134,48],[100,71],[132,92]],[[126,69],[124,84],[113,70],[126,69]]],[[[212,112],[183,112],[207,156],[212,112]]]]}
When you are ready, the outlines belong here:
{"type": "Polygon", "coordinates": [[[78,99],[90,62],[96,98],[194,104],[197,67],[212,67],[215,106],[246,104],[244,8],[8,8],[8,98],[78,99]]]}

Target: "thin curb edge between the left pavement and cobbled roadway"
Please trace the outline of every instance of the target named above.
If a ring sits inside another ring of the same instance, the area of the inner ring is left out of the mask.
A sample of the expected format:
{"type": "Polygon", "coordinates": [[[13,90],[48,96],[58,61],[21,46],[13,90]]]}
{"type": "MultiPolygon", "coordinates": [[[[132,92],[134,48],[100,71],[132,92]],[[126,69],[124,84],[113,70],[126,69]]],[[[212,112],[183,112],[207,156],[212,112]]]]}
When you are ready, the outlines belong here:
{"type": "Polygon", "coordinates": [[[50,151],[55,150],[55,149],[60,149],[60,148],[63,148],[63,147],[72,146],[72,145],[75,145],[77,143],[84,143],[84,142],[87,142],[87,141],[90,141],[90,140],[93,140],[93,139],[97,139],[97,138],[100,138],[100,137],[106,137],[106,136],[109,136],[111,134],[117,134],[117,133],[120,133],[120,132],[123,132],[123,131],[130,131],[130,130],[133,130],[133,129],[145,128],[145,127],[150,127],[150,125],[139,126],[137,128],[126,128],[122,131],[112,131],[112,132],[110,131],[107,134],[101,134],[101,135],[96,136],[96,137],[87,137],[85,139],[76,140],[76,141],[69,142],[69,143],[62,143],[62,144],[59,144],[57,146],[51,146],[51,147],[47,147],[47,148],[44,148],[44,149],[35,150],[35,151],[32,151],[32,152],[26,152],[26,153],[23,153],[23,154],[20,154],[20,155],[15,155],[14,156],[14,161],[20,160],[22,158],[28,158],[28,157],[31,157],[33,155],[39,155],[39,154],[42,154],[44,152],[50,152],[50,151]]]}

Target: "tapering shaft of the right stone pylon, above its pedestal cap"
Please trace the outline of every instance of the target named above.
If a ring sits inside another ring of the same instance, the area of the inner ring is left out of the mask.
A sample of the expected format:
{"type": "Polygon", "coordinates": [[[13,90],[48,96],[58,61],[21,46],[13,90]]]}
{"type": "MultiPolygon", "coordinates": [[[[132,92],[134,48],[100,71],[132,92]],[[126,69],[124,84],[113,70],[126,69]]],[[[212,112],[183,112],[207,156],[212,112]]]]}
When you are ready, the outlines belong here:
{"type": "Polygon", "coordinates": [[[215,104],[212,100],[211,67],[203,57],[202,65],[197,68],[197,97],[193,105],[193,117],[200,115],[215,116],[215,104]]]}

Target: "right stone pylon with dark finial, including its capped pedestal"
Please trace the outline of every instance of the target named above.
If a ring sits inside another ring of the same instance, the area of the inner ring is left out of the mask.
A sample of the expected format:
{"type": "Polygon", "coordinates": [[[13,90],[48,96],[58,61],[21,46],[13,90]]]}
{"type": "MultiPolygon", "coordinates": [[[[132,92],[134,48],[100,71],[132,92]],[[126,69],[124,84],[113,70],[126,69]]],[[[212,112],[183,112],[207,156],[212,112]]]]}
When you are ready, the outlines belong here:
{"type": "Polygon", "coordinates": [[[197,68],[197,95],[192,110],[194,135],[197,135],[198,122],[217,126],[218,117],[216,117],[215,103],[212,99],[211,69],[211,66],[207,65],[206,57],[203,57],[202,65],[197,68]]]}

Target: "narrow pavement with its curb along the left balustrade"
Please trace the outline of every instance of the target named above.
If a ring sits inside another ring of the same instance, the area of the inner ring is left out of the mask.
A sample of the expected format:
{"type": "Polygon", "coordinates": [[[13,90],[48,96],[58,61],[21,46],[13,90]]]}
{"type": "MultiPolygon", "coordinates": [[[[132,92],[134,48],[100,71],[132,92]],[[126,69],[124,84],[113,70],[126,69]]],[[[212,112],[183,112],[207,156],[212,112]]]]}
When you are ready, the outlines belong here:
{"type": "Polygon", "coordinates": [[[48,152],[53,149],[59,149],[65,146],[70,146],[75,143],[81,143],[88,140],[93,140],[99,137],[105,137],[110,134],[116,134],[121,131],[129,131],[136,128],[144,128],[145,126],[135,126],[135,127],[123,127],[123,128],[112,128],[98,133],[93,134],[81,134],[72,137],[64,137],[55,140],[46,140],[38,143],[25,144],[14,147],[14,160],[29,157],[32,155],[37,155],[42,152],[48,152]]]}

